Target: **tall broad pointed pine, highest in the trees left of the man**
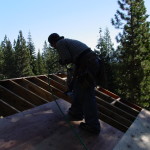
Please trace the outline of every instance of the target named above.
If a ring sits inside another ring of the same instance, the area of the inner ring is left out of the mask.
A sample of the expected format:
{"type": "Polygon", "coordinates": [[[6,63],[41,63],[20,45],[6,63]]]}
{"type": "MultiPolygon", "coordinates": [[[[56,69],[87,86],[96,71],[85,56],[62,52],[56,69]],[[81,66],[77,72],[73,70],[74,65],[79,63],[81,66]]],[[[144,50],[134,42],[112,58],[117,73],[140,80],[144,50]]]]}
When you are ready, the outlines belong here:
{"type": "Polygon", "coordinates": [[[30,54],[22,31],[19,31],[18,39],[15,45],[15,65],[16,77],[33,75],[30,67],[30,54]]]}

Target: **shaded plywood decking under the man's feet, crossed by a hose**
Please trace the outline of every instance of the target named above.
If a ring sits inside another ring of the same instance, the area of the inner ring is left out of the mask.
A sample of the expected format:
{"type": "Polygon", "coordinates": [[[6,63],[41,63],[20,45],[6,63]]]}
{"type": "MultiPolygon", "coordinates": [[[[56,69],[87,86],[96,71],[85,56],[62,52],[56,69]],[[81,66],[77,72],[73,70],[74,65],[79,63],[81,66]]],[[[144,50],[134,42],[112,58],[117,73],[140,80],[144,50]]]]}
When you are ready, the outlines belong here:
{"type": "MultiPolygon", "coordinates": [[[[70,104],[57,100],[66,114],[70,104]]],[[[123,136],[123,132],[100,121],[101,133],[88,134],[73,129],[90,150],[112,150],[123,136]]],[[[0,150],[84,150],[72,129],[64,120],[55,101],[33,109],[0,119],[0,150]]]]}

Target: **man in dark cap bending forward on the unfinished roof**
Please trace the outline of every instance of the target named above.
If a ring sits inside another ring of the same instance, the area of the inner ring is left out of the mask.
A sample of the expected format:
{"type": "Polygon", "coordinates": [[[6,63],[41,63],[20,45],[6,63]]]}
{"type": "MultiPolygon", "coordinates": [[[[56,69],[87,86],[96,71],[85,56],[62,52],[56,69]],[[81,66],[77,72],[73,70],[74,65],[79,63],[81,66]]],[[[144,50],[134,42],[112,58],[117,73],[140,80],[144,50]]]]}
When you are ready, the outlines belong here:
{"type": "Polygon", "coordinates": [[[60,64],[75,64],[73,82],[73,101],[68,115],[85,122],[79,127],[85,131],[99,134],[100,122],[95,99],[96,79],[100,68],[99,57],[84,43],[64,38],[57,33],[48,37],[48,42],[60,56],[60,64]]]}

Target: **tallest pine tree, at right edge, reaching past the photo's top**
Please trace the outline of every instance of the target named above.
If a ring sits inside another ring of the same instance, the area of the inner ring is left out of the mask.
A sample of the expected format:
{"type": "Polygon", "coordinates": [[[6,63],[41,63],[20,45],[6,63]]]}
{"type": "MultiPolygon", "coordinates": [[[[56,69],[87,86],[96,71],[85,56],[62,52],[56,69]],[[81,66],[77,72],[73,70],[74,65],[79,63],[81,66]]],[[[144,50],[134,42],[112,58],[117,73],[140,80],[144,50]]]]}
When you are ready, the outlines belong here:
{"type": "Polygon", "coordinates": [[[123,30],[120,43],[121,93],[128,100],[150,107],[150,23],[143,0],[118,0],[112,24],[123,30]]]}

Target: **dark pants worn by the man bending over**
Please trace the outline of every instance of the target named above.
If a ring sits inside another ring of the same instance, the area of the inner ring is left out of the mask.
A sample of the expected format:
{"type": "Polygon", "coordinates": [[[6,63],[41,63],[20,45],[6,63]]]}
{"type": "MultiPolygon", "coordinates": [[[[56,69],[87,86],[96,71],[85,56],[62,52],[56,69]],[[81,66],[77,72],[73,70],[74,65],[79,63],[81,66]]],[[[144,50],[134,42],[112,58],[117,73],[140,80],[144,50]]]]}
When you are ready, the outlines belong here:
{"type": "MultiPolygon", "coordinates": [[[[74,82],[73,102],[70,111],[79,116],[84,116],[85,122],[95,128],[100,129],[95,99],[95,74],[99,69],[98,59],[87,63],[86,70],[78,76],[74,82]],[[85,73],[85,74],[84,74],[85,73]]],[[[81,71],[81,70],[80,70],[81,71]]]]}

